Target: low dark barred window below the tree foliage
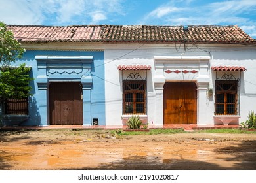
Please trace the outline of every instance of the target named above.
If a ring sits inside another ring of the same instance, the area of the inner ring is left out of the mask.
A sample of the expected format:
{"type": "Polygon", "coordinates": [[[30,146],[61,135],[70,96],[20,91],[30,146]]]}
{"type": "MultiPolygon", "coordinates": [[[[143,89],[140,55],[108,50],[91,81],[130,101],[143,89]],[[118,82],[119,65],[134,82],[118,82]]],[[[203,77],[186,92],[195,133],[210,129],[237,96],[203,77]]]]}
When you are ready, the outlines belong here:
{"type": "Polygon", "coordinates": [[[5,99],[3,114],[28,115],[27,99],[5,99]]]}

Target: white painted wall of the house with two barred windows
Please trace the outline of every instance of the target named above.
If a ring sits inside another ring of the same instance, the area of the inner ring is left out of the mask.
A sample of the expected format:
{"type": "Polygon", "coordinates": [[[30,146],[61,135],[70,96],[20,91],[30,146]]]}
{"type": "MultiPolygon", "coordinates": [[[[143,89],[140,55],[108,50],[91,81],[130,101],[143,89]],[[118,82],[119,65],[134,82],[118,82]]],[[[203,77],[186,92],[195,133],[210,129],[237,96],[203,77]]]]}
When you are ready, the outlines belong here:
{"type": "MultiPolygon", "coordinates": [[[[118,65],[151,65],[152,69],[147,75],[147,99],[148,99],[148,122],[150,124],[161,125],[162,122],[158,114],[159,97],[156,93],[154,78],[156,77],[156,68],[154,56],[210,56],[209,65],[209,88],[213,88],[215,73],[211,71],[211,65],[238,65],[247,69],[242,73],[241,78],[241,101],[240,101],[240,122],[247,119],[250,110],[256,110],[256,48],[248,46],[219,45],[219,47],[209,47],[209,45],[194,46],[191,50],[184,53],[181,46],[163,45],[163,44],[112,44],[104,48],[105,57],[105,97],[106,97],[106,125],[121,125],[122,120],[122,77],[121,71],[117,69],[118,65]],[[177,51],[178,50],[178,51],[177,51]]],[[[178,63],[177,68],[181,68],[184,63],[178,63]]],[[[174,68],[175,69],[175,68],[174,68]]],[[[239,72],[238,72],[239,73],[239,72]]],[[[177,75],[178,76],[178,75],[177,75]]],[[[193,78],[194,75],[191,75],[193,78]]],[[[214,93],[213,96],[206,95],[203,108],[205,108],[203,118],[205,122],[200,124],[213,124],[214,114],[214,93]]],[[[162,112],[162,110],[161,110],[162,112]]]]}

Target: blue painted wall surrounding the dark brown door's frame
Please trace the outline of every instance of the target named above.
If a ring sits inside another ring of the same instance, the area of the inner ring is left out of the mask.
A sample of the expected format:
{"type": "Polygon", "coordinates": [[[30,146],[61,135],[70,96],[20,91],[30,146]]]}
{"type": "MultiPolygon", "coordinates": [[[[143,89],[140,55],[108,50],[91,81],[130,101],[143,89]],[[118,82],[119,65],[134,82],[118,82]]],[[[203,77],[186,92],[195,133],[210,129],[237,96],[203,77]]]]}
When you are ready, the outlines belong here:
{"type": "MultiPolygon", "coordinates": [[[[37,78],[38,68],[35,56],[93,56],[93,62],[91,63],[91,73],[86,73],[87,75],[91,75],[93,79],[93,84],[91,86],[91,119],[89,120],[91,121],[91,123],[93,123],[93,118],[98,118],[99,125],[106,125],[104,52],[27,50],[22,59],[16,61],[16,63],[14,63],[13,65],[20,65],[21,63],[26,63],[27,66],[32,67],[32,71],[30,71],[30,76],[33,78],[37,78]]],[[[45,122],[45,120],[49,119],[47,118],[47,111],[39,109],[40,107],[45,108],[45,106],[42,105],[45,105],[46,103],[44,97],[40,96],[42,95],[42,92],[39,92],[38,90],[37,81],[34,80],[33,82],[31,82],[30,86],[32,86],[33,88],[31,91],[33,96],[30,97],[29,100],[30,118],[26,122],[23,122],[21,125],[49,124],[49,122],[45,122]]],[[[83,94],[85,95],[85,93],[83,94]]],[[[45,95],[47,95],[48,97],[47,93],[45,93],[45,95]]],[[[83,116],[83,118],[87,118],[87,116],[83,116]]]]}

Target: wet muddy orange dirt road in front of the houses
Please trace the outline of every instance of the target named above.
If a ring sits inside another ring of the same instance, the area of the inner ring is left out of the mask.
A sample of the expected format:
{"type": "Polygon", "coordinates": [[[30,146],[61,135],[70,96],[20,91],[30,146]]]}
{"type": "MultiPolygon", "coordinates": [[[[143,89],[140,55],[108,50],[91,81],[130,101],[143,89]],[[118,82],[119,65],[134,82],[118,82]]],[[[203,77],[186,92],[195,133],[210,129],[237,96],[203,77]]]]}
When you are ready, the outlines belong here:
{"type": "Polygon", "coordinates": [[[256,134],[0,131],[0,169],[256,169],[256,134]]]}

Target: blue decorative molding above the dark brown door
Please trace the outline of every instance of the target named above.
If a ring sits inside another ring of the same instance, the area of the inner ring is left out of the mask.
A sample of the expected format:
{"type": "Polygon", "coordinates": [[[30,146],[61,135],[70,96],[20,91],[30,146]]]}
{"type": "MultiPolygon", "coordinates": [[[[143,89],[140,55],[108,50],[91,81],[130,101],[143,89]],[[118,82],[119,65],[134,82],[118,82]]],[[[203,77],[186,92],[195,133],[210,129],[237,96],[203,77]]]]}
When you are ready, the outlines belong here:
{"type": "MultiPolygon", "coordinates": [[[[91,77],[93,56],[35,56],[39,88],[45,89],[51,81],[76,80],[83,82],[85,75],[91,77]]],[[[86,80],[86,88],[91,88],[93,80],[86,80]]]]}

